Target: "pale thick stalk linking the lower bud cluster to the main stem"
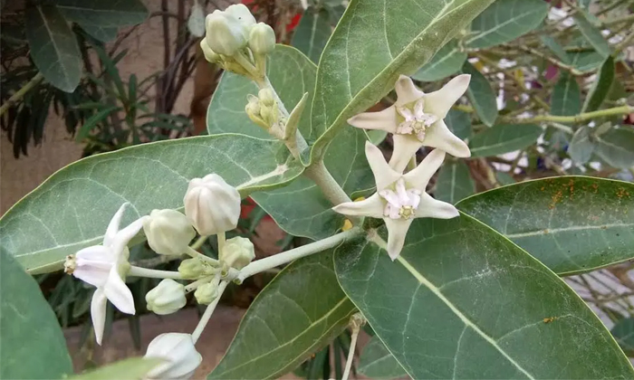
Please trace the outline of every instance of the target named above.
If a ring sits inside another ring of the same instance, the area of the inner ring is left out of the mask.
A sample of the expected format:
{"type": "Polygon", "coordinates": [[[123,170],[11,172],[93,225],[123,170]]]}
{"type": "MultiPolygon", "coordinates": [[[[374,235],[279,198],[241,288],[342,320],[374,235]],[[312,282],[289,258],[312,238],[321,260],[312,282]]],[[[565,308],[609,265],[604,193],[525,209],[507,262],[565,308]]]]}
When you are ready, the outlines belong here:
{"type": "Polygon", "coordinates": [[[362,233],[362,231],[359,228],[352,228],[351,230],[343,233],[337,233],[336,235],[320,240],[318,242],[312,242],[310,244],[294,248],[293,250],[277,253],[274,256],[269,256],[265,259],[254,261],[245,266],[245,268],[243,268],[241,271],[239,271],[235,279],[238,280],[238,282],[242,282],[247,277],[253,276],[255,273],[259,273],[261,271],[269,271],[287,262],[309,256],[313,253],[322,252],[332,247],[336,247],[337,245],[341,244],[341,242],[345,242],[348,239],[359,236],[360,233],[362,233]]]}

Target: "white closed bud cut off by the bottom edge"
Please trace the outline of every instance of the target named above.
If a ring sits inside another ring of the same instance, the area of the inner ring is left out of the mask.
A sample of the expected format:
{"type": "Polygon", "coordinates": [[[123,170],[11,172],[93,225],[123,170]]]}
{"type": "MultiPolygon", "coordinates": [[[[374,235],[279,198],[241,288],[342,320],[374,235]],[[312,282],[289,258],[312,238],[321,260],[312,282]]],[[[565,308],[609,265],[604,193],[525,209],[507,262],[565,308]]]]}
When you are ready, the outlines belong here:
{"type": "Polygon", "coordinates": [[[166,333],[149,342],[143,357],[156,357],[166,362],[154,367],[149,379],[188,379],[194,375],[203,357],[194,347],[191,334],[166,333]]]}

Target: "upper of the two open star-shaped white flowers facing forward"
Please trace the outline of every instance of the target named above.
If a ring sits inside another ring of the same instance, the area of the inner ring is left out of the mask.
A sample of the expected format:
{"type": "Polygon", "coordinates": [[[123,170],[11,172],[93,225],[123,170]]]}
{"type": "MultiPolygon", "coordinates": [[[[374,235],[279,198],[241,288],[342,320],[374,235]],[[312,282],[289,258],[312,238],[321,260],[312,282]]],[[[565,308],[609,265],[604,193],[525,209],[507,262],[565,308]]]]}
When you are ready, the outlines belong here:
{"type": "Polygon", "coordinates": [[[451,133],[445,117],[451,106],[465,93],[471,76],[458,75],[442,89],[429,92],[418,90],[404,75],[394,85],[396,102],[379,112],[364,112],[348,119],[353,127],[383,129],[394,136],[394,153],[389,166],[402,172],[420,147],[437,147],[454,157],[470,157],[465,142],[451,133]]]}

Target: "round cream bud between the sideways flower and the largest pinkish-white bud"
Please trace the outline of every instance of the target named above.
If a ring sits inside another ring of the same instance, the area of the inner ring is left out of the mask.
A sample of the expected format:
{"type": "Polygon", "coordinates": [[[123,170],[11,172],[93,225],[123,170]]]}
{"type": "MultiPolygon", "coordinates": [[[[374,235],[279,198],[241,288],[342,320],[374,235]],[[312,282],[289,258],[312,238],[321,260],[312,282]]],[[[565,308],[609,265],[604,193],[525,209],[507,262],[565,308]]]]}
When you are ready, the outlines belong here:
{"type": "Polygon", "coordinates": [[[143,232],[152,251],[167,255],[187,252],[187,245],[196,236],[187,217],[176,210],[152,210],[143,220],[143,232]]]}

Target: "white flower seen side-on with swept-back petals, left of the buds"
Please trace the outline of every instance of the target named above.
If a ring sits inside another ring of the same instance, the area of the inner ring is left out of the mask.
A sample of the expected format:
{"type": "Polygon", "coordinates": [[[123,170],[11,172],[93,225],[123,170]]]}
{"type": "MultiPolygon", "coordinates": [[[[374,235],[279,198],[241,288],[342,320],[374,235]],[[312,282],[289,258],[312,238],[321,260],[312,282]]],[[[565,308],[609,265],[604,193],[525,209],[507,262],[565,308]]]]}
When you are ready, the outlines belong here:
{"type": "Polygon", "coordinates": [[[92,295],[91,318],[95,337],[100,345],[106,322],[106,300],[110,299],[112,305],[123,313],[135,313],[132,292],[123,279],[130,269],[130,252],[127,245],[143,227],[144,218],[120,230],[121,217],[127,205],[122,204],[110,220],[102,245],[84,248],[67,257],[64,263],[67,273],[72,273],[73,276],[97,288],[92,295]]]}

